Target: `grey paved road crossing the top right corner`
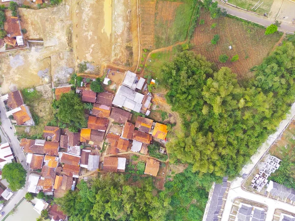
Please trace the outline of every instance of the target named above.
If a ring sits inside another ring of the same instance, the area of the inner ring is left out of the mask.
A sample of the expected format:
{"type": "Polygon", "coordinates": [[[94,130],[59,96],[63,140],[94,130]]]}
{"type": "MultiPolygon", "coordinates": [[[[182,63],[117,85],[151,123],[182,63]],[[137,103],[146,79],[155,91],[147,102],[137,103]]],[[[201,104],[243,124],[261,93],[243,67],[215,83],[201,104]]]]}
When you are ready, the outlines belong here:
{"type": "MultiPolygon", "coordinates": [[[[269,19],[267,17],[257,15],[255,13],[251,13],[249,11],[245,11],[245,10],[233,7],[231,5],[223,3],[220,0],[213,0],[213,1],[218,1],[218,7],[222,8],[222,9],[225,8],[227,10],[228,14],[234,15],[234,16],[242,18],[244,20],[254,22],[254,23],[257,23],[257,24],[262,25],[262,26],[269,26],[269,25],[275,23],[274,19],[269,19]]],[[[280,31],[284,31],[284,32],[286,31],[286,32],[294,33],[295,24],[282,22],[278,29],[280,31]]]]}

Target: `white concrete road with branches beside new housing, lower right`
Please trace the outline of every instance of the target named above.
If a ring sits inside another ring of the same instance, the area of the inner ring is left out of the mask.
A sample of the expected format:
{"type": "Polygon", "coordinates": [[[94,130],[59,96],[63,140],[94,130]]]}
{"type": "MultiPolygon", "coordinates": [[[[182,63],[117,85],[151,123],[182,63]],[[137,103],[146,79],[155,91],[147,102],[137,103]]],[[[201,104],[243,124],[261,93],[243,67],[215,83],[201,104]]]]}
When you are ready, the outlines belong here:
{"type": "MultiPolygon", "coordinates": [[[[264,154],[267,152],[269,147],[272,145],[272,143],[280,137],[281,133],[285,130],[285,128],[288,126],[288,124],[294,119],[295,117],[295,103],[291,107],[290,113],[287,115],[286,119],[283,120],[280,125],[278,126],[277,131],[270,135],[266,142],[258,149],[257,153],[251,157],[251,163],[244,166],[242,168],[241,174],[251,174],[252,169],[257,165],[259,160],[264,156],[264,154]]],[[[250,193],[248,191],[245,191],[241,186],[244,182],[244,179],[241,177],[236,178],[236,180],[231,182],[231,187],[228,192],[227,200],[225,203],[223,215],[221,221],[228,221],[229,216],[231,213],[232,205],[237,197],[249,199],[252,201],[257,201],[259,203],[266,204],[268,207],[267,215],[266,215],[266,221],[271,221],[275,209],[283,209],[289,212],[295,211],[295,206],[284,203],[282,201],[278,201],[275,199],[267,198],[265,196],[250,193]]]]}

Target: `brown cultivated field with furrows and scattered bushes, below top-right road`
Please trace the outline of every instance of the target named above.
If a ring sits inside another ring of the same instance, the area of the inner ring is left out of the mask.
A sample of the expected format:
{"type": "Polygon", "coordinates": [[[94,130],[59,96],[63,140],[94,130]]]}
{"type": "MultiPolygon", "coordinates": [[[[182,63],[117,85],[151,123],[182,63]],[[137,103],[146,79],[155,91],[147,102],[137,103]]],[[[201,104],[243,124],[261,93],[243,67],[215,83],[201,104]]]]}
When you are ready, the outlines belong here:
{"type": "Polygon", "coordinates": [[[252,76],[249,69],[260,64],[281,37],[280,33],[265,36],[265,28],[228,17],[211,20],[209,13],[204,10],[201,11],[200,19],[204,19],[205,24],[195,29],[191,40],[194,46],[192,50],[207,57],[218,68],[230,67],[238,78],[252,76]],[[211,27],[213,23],[216,23],[215,28],[211,27]],[[220,36],[220,40],[212,45],[211,39],[215,34],[220,36]],[[229,50],[229,46],[233,49],[229,50]],[[223,54],[230,57],[226,63],[218,60],[219,55],[223,54]],[[239,60],[231,62],[234,55],[238,55],[239,60]]]}

